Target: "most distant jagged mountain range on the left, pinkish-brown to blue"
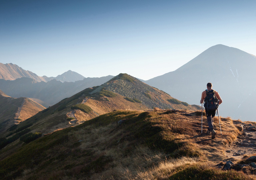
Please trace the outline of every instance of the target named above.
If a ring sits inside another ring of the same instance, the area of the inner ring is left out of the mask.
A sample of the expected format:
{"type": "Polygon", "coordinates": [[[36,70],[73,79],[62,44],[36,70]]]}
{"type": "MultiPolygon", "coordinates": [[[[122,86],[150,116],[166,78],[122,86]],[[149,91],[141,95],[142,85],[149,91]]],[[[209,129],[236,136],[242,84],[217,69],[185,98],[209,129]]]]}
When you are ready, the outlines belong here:
{"type": "Polygon", "coordinates": [[[77,72],[74,71],[67,71],[64,72],[61,75],[58,75],[57,77],[47,77],[47,76],[38,76],[35,73],[31,71],[26,71],[19,67],[16,64],[8,63],[8,64],[3,64],[0,63],[0,79],[4,80],[15,80],[21,77],[28,77],[36,80],[37,82],[48,82],[52,79],[56,79],[62,82],[75,82],[79,80],[83,80],[85,77],[78,74],[77,72]]]}

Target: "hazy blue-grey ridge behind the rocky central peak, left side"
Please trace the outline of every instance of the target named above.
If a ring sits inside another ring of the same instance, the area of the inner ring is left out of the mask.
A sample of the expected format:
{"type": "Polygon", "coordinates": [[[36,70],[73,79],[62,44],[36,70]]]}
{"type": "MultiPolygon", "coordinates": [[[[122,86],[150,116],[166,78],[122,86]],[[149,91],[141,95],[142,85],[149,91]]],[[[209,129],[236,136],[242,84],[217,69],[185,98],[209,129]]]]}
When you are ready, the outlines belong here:
{"type": "Polygon", "coordinates": [[[44,102],[44,105],[54,105],[64,98],[97,85],[101,85],[114,76],[100,78],[84,78],[76,82],[60,82],[53,79],[48,82],[37,82],[31,78],[18,78],[13,81],[0,79],[0,89],[11,97],[36,98],[44,102]]]}

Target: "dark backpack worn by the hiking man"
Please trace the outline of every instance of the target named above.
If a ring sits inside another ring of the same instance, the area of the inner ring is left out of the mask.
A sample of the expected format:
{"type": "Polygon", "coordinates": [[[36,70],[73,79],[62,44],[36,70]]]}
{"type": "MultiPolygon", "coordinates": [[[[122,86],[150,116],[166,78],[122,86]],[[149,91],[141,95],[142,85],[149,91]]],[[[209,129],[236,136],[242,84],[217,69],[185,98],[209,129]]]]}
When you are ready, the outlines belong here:
{"type": "Polygon", "coordinates": [[[219,100],[217,96],[215,96],[215,91],[213,89],[205,90],[206,97],[204,98],[204,108],[207,110],[215,110],[219,107],[219,100]]]}

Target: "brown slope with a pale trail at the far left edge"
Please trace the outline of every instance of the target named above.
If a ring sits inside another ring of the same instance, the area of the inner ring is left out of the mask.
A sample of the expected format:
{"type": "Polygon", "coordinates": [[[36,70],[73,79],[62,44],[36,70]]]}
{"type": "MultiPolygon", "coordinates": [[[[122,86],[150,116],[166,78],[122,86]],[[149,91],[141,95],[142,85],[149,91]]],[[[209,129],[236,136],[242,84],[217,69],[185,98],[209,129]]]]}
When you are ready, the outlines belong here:
{"type": "Polygon", "coordinates": [[[44,109],[29,98],[12,98],[0,90],[0,134],[44,109]]]}

